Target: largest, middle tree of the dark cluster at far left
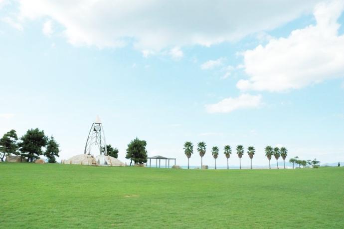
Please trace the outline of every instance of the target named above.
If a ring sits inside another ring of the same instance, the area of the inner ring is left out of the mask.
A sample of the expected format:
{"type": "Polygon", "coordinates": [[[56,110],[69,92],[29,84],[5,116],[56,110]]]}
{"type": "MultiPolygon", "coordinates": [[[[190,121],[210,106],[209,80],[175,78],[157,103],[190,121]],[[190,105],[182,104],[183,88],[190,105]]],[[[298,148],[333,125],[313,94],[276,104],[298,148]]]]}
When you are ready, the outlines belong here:
{"type": "Polygon", "coordinates": [[[29,129],[18,143],[20,156],[27,158],[28,162],[32,162],[33,159],[37,159],[43,154],[42,148],[46,146],[47,142],[48,137],[44,135],[43,130],[29,129]]]}

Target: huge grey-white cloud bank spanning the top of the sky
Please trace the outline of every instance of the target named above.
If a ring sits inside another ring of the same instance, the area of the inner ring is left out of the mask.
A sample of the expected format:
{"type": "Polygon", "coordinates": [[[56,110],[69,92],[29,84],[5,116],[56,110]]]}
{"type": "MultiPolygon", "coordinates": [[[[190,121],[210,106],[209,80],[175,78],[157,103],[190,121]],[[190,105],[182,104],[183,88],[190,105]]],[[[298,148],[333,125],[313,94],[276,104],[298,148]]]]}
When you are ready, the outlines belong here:
{"type": "Polygon", "coordinates": [[[153,50],[235,41],[311,12],[319,0],[19,0],[21,19],[51,18],[73,45],[153,50]]]}

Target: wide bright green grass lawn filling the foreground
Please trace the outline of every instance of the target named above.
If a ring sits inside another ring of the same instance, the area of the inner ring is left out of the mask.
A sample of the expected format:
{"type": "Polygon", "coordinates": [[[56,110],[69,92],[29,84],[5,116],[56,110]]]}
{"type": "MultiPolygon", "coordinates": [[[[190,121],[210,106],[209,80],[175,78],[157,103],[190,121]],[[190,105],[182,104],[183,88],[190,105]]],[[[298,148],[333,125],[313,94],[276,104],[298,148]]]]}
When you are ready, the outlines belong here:
{"type": "Polygon", "coordinates": [[[344,168],[0,163],[0,228],[344,228],[344,168]]]}

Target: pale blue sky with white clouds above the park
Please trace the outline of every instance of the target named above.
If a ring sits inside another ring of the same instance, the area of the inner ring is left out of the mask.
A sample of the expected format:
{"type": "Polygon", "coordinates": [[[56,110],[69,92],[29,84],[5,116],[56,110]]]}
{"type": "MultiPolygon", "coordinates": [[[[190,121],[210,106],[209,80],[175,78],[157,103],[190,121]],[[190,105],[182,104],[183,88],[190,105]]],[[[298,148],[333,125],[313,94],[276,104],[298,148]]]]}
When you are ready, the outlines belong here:
{"type": "MultiPolygon", "coordinates": [[[[0,0],[0,136],[44,130],[84,153],[100,116],[108,144],[225,166],[224,145],[344,160],[344,0],[0,0]],[[222,156],[221,156],[222,155],[222,156]]],[[[282,160],[280,160],[282,162],[282,160]]],[[[247,154],[242,165],[249,165],[247,154]]]]}

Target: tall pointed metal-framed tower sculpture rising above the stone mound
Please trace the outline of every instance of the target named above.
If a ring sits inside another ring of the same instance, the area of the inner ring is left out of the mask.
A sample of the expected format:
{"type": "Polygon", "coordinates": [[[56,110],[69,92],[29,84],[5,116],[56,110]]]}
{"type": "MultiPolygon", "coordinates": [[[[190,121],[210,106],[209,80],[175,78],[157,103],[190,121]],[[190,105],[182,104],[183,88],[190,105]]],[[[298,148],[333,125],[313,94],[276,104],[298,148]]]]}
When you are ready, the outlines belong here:
{"type": "Polygon", "coordinates": [[[100,155],[108,155],[106,150],[105,134],[102,122],[97,116],[96,121],[92,124],[90,133],[88,134],[84,154],[91,154],[93,146],[97,147],[100,155]]]}

